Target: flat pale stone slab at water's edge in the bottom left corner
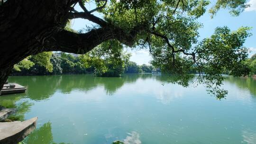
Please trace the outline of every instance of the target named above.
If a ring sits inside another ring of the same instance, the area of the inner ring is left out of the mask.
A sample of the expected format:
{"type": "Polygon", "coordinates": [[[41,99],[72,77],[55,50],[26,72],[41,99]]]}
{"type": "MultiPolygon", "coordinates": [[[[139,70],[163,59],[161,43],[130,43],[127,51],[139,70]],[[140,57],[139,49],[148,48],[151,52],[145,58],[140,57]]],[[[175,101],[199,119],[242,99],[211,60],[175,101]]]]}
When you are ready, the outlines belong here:
{"type": "Polygon", "coordinates": [[[0,123],[0,144],[18,144],[35,128],[37,117],[26,121],[0,123]]]}

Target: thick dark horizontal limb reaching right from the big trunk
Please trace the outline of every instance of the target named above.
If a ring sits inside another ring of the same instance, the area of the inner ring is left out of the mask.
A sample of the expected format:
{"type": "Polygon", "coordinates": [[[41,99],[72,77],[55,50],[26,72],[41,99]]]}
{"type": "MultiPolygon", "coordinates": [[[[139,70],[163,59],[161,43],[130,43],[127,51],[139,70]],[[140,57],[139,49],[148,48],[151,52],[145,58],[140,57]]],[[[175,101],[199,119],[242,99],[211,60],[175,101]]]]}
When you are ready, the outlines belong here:
{"type": "Polygon", "coordinates": [[[119,27],[101,27],[84,34],[62,30],[49,38],[44,45],[44,50],[85,54],[110,39],[117,39],[125,45],[132,46],[141,30],[143,30],[143,26],[134,27],[129,32],[123,31],[119,27]]]}

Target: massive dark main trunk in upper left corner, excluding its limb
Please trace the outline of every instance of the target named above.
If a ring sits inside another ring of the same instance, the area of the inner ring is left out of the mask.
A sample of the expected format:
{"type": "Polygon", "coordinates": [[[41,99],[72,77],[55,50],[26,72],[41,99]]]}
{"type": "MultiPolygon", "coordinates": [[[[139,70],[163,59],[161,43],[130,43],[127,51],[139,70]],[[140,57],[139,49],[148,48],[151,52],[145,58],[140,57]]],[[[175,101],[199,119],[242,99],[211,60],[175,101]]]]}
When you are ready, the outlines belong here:
{"type": "Polygon", "coordinates": [[[44,51],[62,30],[73,0],[7,0],[0,6],[0,88],[15,63],[44,51]]]}

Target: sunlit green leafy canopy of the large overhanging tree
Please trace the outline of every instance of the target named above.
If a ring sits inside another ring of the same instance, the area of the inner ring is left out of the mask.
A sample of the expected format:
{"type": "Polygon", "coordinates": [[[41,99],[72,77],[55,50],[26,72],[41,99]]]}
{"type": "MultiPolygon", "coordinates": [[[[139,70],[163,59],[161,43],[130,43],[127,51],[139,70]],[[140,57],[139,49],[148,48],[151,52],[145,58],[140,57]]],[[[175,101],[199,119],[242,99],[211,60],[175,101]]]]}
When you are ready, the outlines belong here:
{"type": "MultiPolygon", "coordinates": [[[[129,46],[148,49],[155,67],[177,75],[170,82],[188,86],[189,73],[196,68],[199,73],[196,82],[206,83],[209,93],[221,99],[227,94],[220,88],[222,73],[245,76],[250,72],[244,62],[248,49],[243,44],[251,34],[250,27],[236,31],[217,27],[212,36],[199,41],[198,29],[202,24],[197,18],[209,4],[209,0],[110,0],[108,4],[100,0],[98,11],[104,15],[104,23],[97,24],[119,27],[127,33],[143,26],[132,36],[134,43],[129,46]]],[[[238,16],[247,7],[246,0],[217,0],[209,12],[214,16],[224,8],[238,16]]]]}

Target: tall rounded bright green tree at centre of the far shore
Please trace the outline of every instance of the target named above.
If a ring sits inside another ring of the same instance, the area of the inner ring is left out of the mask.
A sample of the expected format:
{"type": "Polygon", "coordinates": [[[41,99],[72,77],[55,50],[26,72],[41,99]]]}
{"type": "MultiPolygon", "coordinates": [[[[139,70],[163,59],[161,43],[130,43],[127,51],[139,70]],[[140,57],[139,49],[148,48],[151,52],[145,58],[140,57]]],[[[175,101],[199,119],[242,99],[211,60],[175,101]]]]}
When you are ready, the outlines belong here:
{"type": "Polygon", "coordinates": [[[84,54],[82,62],[87,68],[95,67],[96,76],[120,76],[130,57],[129,54],[122,53],[122,48],[118,41],[107,41],[90,53],[84,54]]]}

